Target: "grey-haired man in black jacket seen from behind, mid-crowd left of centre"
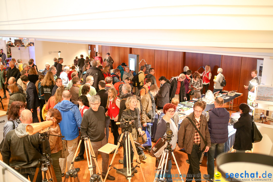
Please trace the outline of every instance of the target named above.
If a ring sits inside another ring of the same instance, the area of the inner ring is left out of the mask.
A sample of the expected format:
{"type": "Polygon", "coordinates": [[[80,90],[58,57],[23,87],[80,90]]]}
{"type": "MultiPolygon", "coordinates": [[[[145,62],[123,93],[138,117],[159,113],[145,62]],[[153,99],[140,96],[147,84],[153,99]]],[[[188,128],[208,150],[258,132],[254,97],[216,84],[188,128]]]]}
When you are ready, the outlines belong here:
{"type": "MultiPolygon", "coordinates": [[[[104,80],[104,76],[102,71],[100,71],[99,68],[97,68],[97,61],[93,60],[91,61],[91,67],[86,71],[86,77],[87,76],[93,76],[94,78],[94,83],[93,83],[93,87],[96,89],[96,92],[99,91],[99,81],[100,80],[104,80]]],[[[85,80],[83,81],[83,83],[85,83],[85,80]]]]}

